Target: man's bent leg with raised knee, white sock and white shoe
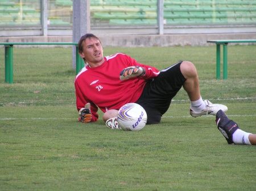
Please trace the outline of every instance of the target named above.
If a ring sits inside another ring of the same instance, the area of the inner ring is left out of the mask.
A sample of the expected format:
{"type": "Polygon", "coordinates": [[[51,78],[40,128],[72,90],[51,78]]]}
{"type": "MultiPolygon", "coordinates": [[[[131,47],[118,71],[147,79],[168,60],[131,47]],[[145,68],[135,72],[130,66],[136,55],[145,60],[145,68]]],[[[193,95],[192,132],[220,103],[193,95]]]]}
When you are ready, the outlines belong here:
{"type": "Polygon", "coordinates": [[[189,61],[183,61],[180,65],[181,74],[186,79],[183,88],[191,101],[190,114],[199,117],[204,114],[215,115],[218,110],[227,111],[228,108],[222,104],[212,104],[209,100],[203,100],[200,94],[199,77],[195,65],[189,61]]]}

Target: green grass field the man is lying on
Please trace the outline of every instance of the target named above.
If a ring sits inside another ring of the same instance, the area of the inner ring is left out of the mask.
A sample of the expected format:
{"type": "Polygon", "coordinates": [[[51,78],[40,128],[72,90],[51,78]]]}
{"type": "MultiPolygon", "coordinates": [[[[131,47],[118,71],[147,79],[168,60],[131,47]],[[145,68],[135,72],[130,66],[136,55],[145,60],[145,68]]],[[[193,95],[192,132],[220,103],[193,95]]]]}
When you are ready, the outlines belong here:
{"type": "MultiPolygon", "coordinates": [[[[229,46],[228,79],[215,79],[215,46],[105,48],[164,69],[195,63],[201,95],[226,104],[256,133],[256,46],[229,46]]],[[[255,190],[256,147],[228,145],[213,116],[189,116],[184,90],[158,125],[110,130],[77,122],[71,48],[14,48],[14,84],[0,49],[0,190],[255,190]]]]}

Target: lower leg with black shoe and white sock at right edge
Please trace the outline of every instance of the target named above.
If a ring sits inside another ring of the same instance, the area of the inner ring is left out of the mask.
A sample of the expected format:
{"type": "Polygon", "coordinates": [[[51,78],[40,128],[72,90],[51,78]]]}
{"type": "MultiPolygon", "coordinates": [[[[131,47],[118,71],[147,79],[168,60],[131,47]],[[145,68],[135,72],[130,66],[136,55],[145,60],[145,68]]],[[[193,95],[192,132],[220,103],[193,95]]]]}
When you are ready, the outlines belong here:
{"type": "Polygon", "coordinates": [[[256,134],[241,130],[222,110],[216,113],[216,125],[229,144],[256,145],[256,134]]]}

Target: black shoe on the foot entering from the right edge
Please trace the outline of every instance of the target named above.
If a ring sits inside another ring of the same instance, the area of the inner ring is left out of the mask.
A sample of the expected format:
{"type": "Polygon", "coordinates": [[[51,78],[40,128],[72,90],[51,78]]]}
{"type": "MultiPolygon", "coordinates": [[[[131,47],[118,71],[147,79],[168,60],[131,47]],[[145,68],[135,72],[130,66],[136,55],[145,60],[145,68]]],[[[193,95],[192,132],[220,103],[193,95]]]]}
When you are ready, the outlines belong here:
{"type": "Polygon", "coordinates": [[[232,137],[233,137],[232,135],[233,135],[234,131],[239,129],[236,122],[230,120],[226,116],[224,111],[219,110],[216,113],[216,125],[217,125],[218,130],[220,130],[222,135],[224,135],[224,137],[226,138],[226,141],[228,141],[229,144],[234,143],[232,140],[232,137]]]}

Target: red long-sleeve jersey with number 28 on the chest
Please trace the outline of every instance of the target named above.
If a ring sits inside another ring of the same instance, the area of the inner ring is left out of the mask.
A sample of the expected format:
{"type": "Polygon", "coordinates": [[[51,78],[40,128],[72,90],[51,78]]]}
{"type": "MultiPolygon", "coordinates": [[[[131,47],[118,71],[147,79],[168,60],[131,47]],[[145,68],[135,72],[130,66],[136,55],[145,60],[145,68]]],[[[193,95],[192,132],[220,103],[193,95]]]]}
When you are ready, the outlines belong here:
{"type": "Polygon", "coordinates": [[[85,66],[75,79],[76,107],[79,111],[86,103],[91,104],[92,120],[98,119],[98,108],[102,112],[119,109],[126,103],[134,103],[141,96],[146,80],[156,77],[159,70],[143,65],[126,54],[117,53],[104,57],[98,67],[85,66]],[[142,66],[143,77],[120,80],[120,72],[129,66],[142,66]]]}

